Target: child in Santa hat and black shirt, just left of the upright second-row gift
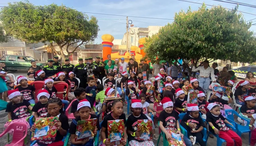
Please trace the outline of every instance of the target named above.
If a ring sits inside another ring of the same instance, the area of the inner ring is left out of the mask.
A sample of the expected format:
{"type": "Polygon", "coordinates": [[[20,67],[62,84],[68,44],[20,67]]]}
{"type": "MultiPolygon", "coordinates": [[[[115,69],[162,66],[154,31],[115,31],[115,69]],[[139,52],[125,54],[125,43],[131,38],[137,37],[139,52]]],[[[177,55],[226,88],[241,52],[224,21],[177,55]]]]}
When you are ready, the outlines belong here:
{"type": "Polygon", "coordinates": [[[176,96],[178,97],[175,101],[175,109],[180,113],[187,112],[187,97],[180,88],[176,90],[176,96]]]}

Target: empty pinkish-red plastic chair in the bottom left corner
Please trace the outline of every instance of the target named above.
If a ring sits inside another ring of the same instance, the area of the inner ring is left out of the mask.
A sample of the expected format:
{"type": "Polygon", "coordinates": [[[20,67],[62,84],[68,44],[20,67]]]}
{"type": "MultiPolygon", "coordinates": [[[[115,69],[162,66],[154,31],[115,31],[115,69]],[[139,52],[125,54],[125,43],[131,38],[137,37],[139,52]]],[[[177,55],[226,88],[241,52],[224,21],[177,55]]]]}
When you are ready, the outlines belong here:
{"type": "Polygon", "coordinates": [[[12,142],[6,144],[5,146],[25,146],[24,138],[27,137],[27,125],[21,122],[11,123],[1,134],[0,137],[5,135],[9,130],[13,129],[12,142]],[[25,134],[24,134],[25,131],[25,134]]]}

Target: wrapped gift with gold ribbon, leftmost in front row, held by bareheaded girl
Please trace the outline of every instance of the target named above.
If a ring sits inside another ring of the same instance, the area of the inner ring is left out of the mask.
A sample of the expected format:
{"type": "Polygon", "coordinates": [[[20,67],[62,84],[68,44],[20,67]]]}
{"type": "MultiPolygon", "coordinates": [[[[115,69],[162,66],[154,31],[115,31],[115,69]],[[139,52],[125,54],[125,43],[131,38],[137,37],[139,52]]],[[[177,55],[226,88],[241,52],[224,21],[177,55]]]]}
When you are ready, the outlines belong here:
{"type": "Polygon", "coordinates": [[[59,117],[37,118],[34,126],[35,132],[32,132],[31,141],[56,137],[57,125],[54,125],[59,117]]]}

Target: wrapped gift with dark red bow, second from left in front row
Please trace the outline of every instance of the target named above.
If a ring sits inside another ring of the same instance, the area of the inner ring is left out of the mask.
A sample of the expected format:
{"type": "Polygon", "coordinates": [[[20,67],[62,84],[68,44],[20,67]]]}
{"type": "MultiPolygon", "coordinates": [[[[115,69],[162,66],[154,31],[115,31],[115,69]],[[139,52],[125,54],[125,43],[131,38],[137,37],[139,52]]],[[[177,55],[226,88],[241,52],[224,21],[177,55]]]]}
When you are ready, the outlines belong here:
{"type": "Polygon", "coordinates": [[[93,139],[97,118],[77,121],[75,141],[83,141],[86,137],[93,139]]]}

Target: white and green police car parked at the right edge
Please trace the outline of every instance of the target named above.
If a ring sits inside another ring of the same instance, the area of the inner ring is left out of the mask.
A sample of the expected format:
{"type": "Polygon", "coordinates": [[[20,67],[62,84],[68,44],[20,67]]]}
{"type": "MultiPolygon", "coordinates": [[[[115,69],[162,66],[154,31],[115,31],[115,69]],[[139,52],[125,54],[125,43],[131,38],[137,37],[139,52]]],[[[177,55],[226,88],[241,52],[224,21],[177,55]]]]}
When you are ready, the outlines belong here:
{"type": "Polygon", "coordinates": [[[244,79],[248,71],[251,71],[254,75],[256,75],[256,66],[242,66],[240,68],[232,69],[232,71],[235,72],[237,78],[244,79]]]}

